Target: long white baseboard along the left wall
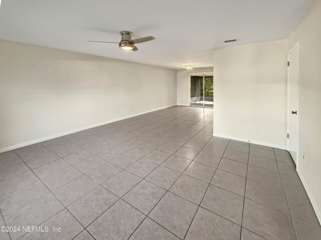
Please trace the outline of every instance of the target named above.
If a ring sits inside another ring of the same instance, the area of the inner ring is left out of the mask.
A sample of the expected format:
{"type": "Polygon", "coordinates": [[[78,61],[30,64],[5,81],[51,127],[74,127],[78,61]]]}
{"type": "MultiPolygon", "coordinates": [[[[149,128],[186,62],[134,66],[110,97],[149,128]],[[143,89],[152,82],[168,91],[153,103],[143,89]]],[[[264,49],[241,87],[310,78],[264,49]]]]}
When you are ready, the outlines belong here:
{"type": "Polygon", "coordinates": [[[20,147],[29,146],[29,145],[32,145],[32,144],[35,144],[35,143],[47,141],[47,140],[50,140],[50,139],[53,139],[53,138],[56,138],[56,137],[65,136],[65,135],[68,135],[68,134],[71,134],[71,133],[83,131],[83,130],[86,130],[86,129],[89,129],[89,128],[98,127],[98,126],[105,125],[105,124],[112,123],[112,122],[117,122],[117,121],[120,121],[120,120],[123,120],[123,119],[135,117],[135,116],[138,116],[138,115],[141,115],[141,114],[145,114],[145,113],[149,113],[149,112],[153,112],[153,111],[157,111],[157,110],[173,107],[173,106],[176,106],[176,104],[173,104],[173,105],[170,105],[170,106],[166,106],[166,107],[162,107],[162,108],[149,110],[149,111],[146,111],[146,112],[141,112],[141,113],[125,116],[125,117],[121,117],[121,118],[112,119],[112,120],[109,120],[109,121],[106,121],[106,122],[101,122],[101,123],[97,123],[97,124],[93,124],[93,125],[89,125],[89,126],[73,129],[73,130],[70,130],[70,131],[67,131],[67,132],[62,132],[62,133],[58,133],[58,134],[55,134],[55,135],[51,135],[49,137],[42,137],[42,138],[38,138],[38,139],[35,139],[35,140],[32,140],[32,141],[19,143],[19,144],[13,145],[13,146],[1,148],[0,149],[0,153],[7,152],[7,151],[10,151],[10,150],[14,150],[14,149],[17,149],[17,148],[20,148],[20,147]]]}

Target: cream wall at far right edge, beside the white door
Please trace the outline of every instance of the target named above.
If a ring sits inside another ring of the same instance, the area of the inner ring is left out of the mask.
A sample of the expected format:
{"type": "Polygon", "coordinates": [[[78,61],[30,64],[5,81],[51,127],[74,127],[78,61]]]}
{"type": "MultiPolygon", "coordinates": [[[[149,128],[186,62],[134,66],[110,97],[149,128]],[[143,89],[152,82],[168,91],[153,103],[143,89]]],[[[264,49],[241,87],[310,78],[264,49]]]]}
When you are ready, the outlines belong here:
{"type": "Polygon", "coordinates": [[[321,222],[321,1],[317,0],[289,38],[299,43],[298,174],[321,222]],[[306,154],[304,163],[303,151],[306,154]]]}

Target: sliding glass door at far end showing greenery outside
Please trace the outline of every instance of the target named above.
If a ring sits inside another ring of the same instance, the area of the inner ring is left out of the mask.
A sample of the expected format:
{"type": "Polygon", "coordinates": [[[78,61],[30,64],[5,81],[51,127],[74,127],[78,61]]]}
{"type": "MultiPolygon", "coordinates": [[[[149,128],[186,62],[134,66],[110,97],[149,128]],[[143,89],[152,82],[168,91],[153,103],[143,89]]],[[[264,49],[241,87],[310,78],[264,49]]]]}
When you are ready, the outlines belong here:
{"type": "Polygon", "coordinates": [[[213,75],[199,74],[190,76],[190,105],[213,108],[213,75]]]}

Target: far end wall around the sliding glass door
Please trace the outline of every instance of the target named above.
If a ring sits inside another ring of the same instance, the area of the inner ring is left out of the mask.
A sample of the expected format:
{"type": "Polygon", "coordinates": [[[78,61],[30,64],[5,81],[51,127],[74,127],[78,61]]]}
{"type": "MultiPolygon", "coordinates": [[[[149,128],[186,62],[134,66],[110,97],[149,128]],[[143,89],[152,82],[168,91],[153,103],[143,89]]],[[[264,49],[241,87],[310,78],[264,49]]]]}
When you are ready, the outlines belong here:
{"type": "Polygon", "coordinates": [[[178,70],[177,71],[177,105],[190,106],[190,85],[189,73],[213,72],[213,67],[208,68],[193,68],[192,71],[178,70]]]}

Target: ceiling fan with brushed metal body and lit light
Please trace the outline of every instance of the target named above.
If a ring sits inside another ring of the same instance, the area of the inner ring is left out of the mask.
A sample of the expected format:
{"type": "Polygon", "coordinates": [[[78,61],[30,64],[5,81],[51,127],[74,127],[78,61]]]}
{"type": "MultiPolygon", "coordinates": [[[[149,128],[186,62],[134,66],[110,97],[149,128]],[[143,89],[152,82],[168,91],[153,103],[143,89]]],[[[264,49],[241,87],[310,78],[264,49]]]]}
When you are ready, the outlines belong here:
{"type": "Polygon", "coordinates": [[[131,39],[132,33],[128,31],[122,31],[120,32],[121,40],[119,43],[117,42],[101,42],[101,41],[87,41],[87,42],[94,42],[94,43],[117,43],[118,47],[122,50],[131,50],[131,51],[137,51],[138,48],[134,45],[137,43],[144,43],[151,40],[154,40],[155,38],[152,36],[149,37],[143,37],[139,39],[131,39]]]}

